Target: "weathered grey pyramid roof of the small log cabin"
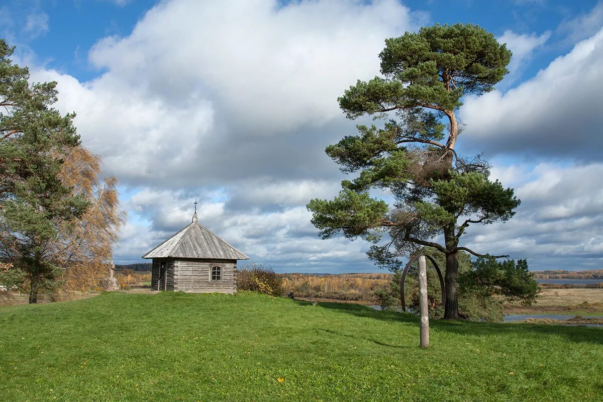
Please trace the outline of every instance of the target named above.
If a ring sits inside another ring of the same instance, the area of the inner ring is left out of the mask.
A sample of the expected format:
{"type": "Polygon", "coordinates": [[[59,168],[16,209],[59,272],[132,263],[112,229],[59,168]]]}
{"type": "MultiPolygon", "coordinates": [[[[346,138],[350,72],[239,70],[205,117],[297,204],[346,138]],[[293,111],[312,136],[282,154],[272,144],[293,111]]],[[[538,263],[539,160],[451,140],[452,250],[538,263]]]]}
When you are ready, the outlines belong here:
{"type": "Polygon", "coordinates": [[[174,236],[153,248],[142,258],[249,259],[241,251],[227,243],[226,240],[198,224],[195,218],[197,217],[193,218],[191,224],[180,229],[174,236]]]}

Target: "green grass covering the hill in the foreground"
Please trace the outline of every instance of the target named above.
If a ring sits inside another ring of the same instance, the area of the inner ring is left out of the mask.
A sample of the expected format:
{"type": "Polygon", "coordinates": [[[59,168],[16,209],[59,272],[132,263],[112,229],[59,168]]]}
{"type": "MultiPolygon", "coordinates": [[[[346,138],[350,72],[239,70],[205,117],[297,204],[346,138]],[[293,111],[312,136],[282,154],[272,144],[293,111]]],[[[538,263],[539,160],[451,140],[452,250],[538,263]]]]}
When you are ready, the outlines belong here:
{"type": "Polygon", "coordinates": [[[588,401],[603,330],[432,322],[257,294],[0,309],[2,401],[588,401]],[[280,383],[277,378],[284,378],[280,383]]]}

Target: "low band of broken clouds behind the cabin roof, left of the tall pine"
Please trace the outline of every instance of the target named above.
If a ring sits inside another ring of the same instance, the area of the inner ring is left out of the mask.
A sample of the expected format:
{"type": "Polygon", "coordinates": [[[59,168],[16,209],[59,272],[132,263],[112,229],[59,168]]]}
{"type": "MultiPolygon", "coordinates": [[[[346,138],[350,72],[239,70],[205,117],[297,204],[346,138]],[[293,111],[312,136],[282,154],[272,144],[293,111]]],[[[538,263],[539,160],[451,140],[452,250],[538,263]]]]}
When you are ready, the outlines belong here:
{"type": "MultiPolygon", "coordinates": [[[[300,186],[303,190],[304,184],[300,186]]],[[[283,187],[287,187],[284,184],[283,187]]],[[[233,193],[234,197],[244,194],[233,193]]],[[[137,262],[146,251],[191,222],[191,193],[143,189],[127,201],[130,222],[122,231],[115,259],[137,262]]],[[[230,195],[229,195],[230,197],[230,195]]],[[[253,200],[256,195],[252,194],[253,200]]],[[[226,209],[223,192],[207,192],[198,199],[201,224],[244,250],[258,262],[268,263],[279,272],[324,272],[341,270],[371,271],[373,264],[364,254],[367,244],[344,238],[321,240],[310,223],[311,215],[300,203],[305,199],[285,200],[287,204],[266,211],[260,206],[244,210],[226,209]]]]}

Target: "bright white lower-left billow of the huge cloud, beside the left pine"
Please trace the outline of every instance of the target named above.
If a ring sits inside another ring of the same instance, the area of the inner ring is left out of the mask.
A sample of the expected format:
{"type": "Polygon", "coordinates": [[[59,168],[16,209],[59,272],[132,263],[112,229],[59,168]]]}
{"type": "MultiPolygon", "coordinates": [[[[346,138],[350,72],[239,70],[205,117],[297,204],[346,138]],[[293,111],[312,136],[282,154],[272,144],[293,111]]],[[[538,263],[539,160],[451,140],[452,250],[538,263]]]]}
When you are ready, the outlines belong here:
{"type": "MultiPolygon", "coordinates": [[[[150,93],[128,90],[111,75],[81,84],[69,75],[34,70],[36,81],[57,81],[62,111],[77,111],[75,125],[83,143],[103,156],[106,173],[125,183],[182,178],[210,135],[209,101],[188,94],[179,105],[150,93]],[[186,162],[186,163],[183,163],[186,162]]],[[[182,185],[182,180],[176,185],[182,185]]]]}

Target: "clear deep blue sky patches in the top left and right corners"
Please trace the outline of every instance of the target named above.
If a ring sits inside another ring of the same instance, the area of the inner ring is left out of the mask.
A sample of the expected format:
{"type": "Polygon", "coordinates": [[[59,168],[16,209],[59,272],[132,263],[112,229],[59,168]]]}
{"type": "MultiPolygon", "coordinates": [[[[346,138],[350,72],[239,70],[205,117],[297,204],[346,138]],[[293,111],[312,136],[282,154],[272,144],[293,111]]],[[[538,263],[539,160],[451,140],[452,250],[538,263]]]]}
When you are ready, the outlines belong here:
{"type": "MultiPolygon", "coordinates": [[[[87,63],[87,52],[106,36],[127,36],[137,21],[156,0],[82,0],[82,1],[8,1],[0,8],[2,20],[11,20],[4,36],[13,43],[27,45],[49,68],[66,71],[80,81],[97,77],[102,71],[87,63]],[[46,14],[48,30],[31,35],[24,30],[31,14],[46,14]]],[[[286,2],[285,2],[286,4],[286,2]]],[[[411,10],[426,24],[472,22],[497,36],[504,31],[543,33],[555,31],[559,25],[579,14],[587,14],[596,0],[567,1],[406,1],[411,10]],[[421,15],[423,14],[423,15],[421,15]]],[[[563,38],[557,38],[563,39],[563,38]]],[[[573,43],[549,43],[546,51],[535,55],[526,66],[525,77],[567,52],[573,43]]],[[[522,76],[523,76],[522,74],[522,76]]]]}

